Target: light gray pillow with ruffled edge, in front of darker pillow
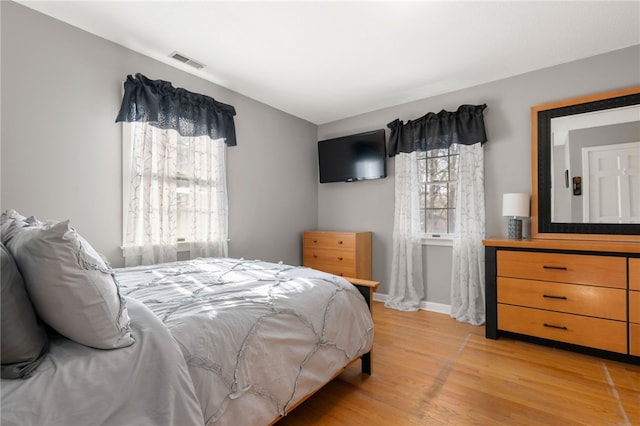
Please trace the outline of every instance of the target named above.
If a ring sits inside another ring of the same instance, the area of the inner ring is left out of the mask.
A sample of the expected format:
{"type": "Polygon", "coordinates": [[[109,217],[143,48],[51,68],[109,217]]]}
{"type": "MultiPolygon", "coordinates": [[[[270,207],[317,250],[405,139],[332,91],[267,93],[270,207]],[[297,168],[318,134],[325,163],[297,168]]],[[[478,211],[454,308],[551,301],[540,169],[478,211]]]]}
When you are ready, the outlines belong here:
{"type": "Polygon", "coordinates": [[[7,248],[22,273],[38,315],[83,345],[113,349],[134,340],[129,314],[111,268],[69,226],[9,225],[7,248]]]}

